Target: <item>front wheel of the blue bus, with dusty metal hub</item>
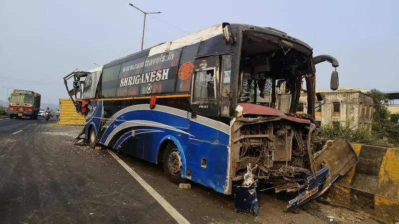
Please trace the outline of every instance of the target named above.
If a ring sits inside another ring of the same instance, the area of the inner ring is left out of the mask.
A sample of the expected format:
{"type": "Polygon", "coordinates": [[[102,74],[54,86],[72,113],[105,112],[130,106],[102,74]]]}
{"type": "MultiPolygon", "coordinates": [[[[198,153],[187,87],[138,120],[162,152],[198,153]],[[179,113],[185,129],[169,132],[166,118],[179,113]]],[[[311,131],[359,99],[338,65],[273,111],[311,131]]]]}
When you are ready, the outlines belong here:
{"type": "Polygon", "coordinates": [[[166,146],[164,152],[164,172],[172,183],[187,183],[187,179],[182,178],[182,167],[179,149],[171,142],[166,146]]]}

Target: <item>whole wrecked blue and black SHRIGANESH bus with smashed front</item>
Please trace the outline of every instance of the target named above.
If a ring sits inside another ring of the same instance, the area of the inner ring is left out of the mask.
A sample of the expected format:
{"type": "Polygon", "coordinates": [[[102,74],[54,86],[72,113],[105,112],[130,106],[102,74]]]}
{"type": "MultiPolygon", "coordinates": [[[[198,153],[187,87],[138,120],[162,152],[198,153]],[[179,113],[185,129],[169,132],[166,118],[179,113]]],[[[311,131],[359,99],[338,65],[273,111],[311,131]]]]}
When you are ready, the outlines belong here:
{"type": "Polygon", "coordinates": [[[222,23],[94,72],[73,72],[64,82],[72,100],[81,96],[81,104],[74,102],[86,116],[91,147],[162,162],[175,183],[190,179],[236,200],[251,197],[236,207],[256,214],[256,183],[302,191],[292,208],[357,163],[347,142],[323,145],[314,138],[315,64],[324,61],[334,67],[336,90],[334,57],[313,57],[308,44],[270,27],[222,23]],[[308,111],[296,114],[303,79],[308,111]],[[291,95],[287,114],[276,109],[281,85],[291,95]],[[232,192],[233,185],[247,193],[232,192]]]}

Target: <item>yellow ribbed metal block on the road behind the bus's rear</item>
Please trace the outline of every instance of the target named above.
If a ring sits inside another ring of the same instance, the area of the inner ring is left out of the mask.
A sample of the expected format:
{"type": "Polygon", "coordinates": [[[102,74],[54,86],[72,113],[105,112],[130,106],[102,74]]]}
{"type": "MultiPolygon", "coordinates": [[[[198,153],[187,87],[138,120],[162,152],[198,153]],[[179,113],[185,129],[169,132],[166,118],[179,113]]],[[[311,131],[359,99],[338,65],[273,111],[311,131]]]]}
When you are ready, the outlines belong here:
{"type": "Polygon", "coordinates": [[[71,99],[59,99],[60,116],[58,124],[84,125],[85,118],[75,110],[71,99]]]}

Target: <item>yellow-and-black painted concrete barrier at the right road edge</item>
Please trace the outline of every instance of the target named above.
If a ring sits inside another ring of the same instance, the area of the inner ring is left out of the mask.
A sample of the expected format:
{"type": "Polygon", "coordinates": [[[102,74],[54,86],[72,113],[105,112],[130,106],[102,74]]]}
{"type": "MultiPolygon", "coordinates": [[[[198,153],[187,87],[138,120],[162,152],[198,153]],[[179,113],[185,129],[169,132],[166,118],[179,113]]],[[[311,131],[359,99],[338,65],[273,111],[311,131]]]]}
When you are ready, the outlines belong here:
{"type": "Polygon", "coordinates": [[[328,196],[333,203],[399,221],[399,148],[351,145],[359,162],[333,184],[328,196]]]}

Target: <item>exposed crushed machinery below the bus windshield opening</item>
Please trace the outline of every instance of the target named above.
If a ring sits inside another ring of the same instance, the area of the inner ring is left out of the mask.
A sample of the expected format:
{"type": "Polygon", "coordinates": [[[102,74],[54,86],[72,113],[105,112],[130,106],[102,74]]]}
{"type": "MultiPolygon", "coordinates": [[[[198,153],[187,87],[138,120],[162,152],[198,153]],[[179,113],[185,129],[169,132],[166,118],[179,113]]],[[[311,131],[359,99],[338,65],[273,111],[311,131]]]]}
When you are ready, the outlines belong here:
{"type": "MultiPolygon", "coordinates": [[[[252,113],[248,110],[252,105],[242,105],[244,112],[252,113]]],[[[263,106],[255,107],[266,110],[263,106]]],[[[313,173],[309,155],[313,154],[311,134],[315,125],[305,119],[296,118],[300,122],[289,119],[284,114],[247,113],[233,119],[230,140],[233,181],[244,180],[250,169],[254,179],[273,185],[276,192],[305,187],[304,180],[313,173]]]]}

